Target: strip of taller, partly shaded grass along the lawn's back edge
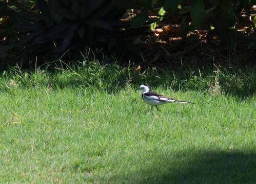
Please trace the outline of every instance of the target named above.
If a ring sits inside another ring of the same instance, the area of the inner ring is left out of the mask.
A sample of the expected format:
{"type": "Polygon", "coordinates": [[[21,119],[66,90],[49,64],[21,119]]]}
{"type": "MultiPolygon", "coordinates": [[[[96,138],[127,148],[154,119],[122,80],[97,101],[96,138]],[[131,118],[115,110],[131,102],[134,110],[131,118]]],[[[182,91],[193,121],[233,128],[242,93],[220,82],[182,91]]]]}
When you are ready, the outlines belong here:
{"type": "Polygon", "coordinates": [[[87,90],[102,90],[107,93],[140,84],[151,87],[162,87],[173,90],[212,90],[213,93],[224,93],[237,97],[240,100],[250,99],[256,91],[256,67],[242,70],[226,70],[218,68],[216,71],[204,70],[156,70],[148,68],[146,71],[135,72],[132,67],[121,67],[117,64],[91,63],[85,67],[72,66],[68,70],[34,71],[29,75],[26,72],[12,72],[0,79],[7,81],[0,83],[0,90],[8,90],[11,83],[26,87],[83,88],[87,90]],[[9,79],[8,79],[9,78],[9,79]],[[10,82],[10,79],[12,82],[10,82]],[[9,82],[9,84],[8,84],[9,82]]]}

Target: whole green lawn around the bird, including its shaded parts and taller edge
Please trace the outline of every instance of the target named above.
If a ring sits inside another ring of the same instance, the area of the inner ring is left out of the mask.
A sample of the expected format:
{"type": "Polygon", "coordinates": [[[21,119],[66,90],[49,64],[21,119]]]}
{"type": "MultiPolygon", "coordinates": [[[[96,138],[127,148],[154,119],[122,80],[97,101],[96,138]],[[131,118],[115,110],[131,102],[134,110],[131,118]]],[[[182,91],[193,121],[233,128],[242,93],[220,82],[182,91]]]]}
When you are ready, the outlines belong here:
{"type": "Polygon", "coordinates": [[[0,76],[0,183],[255,183],[255,70],[93,63],[0,76]],[[141,83],[196,105],[150,111],[141,83]]]}

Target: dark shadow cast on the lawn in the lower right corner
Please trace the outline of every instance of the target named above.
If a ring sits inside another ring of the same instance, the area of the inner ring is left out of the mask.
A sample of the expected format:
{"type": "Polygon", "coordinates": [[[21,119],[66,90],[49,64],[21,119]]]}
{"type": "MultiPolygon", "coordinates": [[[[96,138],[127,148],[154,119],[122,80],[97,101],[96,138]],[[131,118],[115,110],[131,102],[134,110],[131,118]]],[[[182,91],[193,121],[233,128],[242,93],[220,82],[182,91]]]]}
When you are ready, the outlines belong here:
{"type": "Polygon", "coordinates": [[[256,183],[256,154],[242,152],[182,153],[147,166],[128,176],[114,176],[124,183],[256,183]]]}

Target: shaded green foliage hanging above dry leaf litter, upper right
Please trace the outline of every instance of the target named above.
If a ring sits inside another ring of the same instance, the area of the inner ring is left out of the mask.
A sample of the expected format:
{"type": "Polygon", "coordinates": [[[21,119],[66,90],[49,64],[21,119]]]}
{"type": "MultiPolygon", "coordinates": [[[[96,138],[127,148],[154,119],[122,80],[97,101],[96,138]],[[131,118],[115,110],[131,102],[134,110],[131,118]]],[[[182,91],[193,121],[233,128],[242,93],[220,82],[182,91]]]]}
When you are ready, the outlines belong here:
{"type": "MultiPolygon", "coordinates": [[[[246,12],[249,13],[250,8],[256,4],[255,0],[156,0],[153,2],[140,1],[140,3],[137,3],[136,1],[121,0],[119,1],[119,4],[122,4],[123,2],[126,2],[125,6],[134,9],[148,9],[149,4],[152,3],[153,8],[163,7],[169,14],[182,14],[183,16],[189,15],[194,27],[204,27],[215,32],[220,36],[224,45],[234,52],[237,45],[237,25],[239,24],[237,17],[240,16],[242,9],[245,9],[246,12]]],[[[160,18],[162,17],[160,16],[158,21],[160,21],[160,18]]],[[[145,21],[145,17],[140,17],[136,19],[136,25],[143,25],[145,21]]],[[[190,19],[187,19],[186,21],[190,21],[190,19]]],[[[251,24],[255,29],[255,23],[253,21],[254,19],[251,24]]],[[[157,22],[152,24],[151,29],[154,29],[156,24],[157,22]]],[[[182,26],[185,28],[184,25],[182,26]]],[[[250,27],[251,25],[248,26],[250,27]]],[[[182,32],[188,30],[189,29],[185,29],[182,32]]]]}

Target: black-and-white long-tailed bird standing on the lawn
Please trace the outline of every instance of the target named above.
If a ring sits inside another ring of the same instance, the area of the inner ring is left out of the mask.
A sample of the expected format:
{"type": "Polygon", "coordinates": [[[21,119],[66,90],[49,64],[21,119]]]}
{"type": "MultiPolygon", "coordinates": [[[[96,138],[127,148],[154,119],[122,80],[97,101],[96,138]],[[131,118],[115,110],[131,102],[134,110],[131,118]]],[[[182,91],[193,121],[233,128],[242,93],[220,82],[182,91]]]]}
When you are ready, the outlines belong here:
{"type": "Polygon", "coordinates": [[[174,99],[170,99],[168,97],[165,97],[163,95],[159,95],[157,93],[154,93],[150,90],[150,87],[148,85],[141,85],[139,88],[137,89],[141,89],[142,90],[142,99],[144,100],[144,102],[146,102],[147,104],[151,105],[151,109],[153,109],[153,106],[155,106],[155,108],[157,110],[158,109],[158,105],[163,105],[163,104],[167,104],[167,103],[186,103],[186,104],[194,104],[192,102],[186,102],[186,101],[180,101],[180,100],[174,100],[174,99]]]}

